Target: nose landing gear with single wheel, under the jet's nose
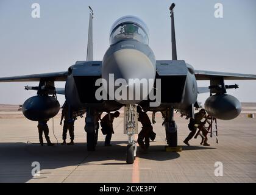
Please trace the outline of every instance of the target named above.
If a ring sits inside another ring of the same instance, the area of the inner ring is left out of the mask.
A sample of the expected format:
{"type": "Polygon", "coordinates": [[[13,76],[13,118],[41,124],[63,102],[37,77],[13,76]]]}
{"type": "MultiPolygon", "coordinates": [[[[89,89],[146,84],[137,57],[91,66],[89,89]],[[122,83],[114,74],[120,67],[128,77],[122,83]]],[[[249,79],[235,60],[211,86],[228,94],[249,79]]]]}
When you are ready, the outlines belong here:
{"type": "Polygon", "coordinates": [[[129,137],[128,145],[126,148],[126,163],[133,164],[136,152],[137,152],[137,144],[133,141],[133,135],[135,133],[134,124],[135,124],[135,114],[136,114],[136,106],[135,105],[127,105],[128,113],[126,117],[126,134],[129,137]]]}

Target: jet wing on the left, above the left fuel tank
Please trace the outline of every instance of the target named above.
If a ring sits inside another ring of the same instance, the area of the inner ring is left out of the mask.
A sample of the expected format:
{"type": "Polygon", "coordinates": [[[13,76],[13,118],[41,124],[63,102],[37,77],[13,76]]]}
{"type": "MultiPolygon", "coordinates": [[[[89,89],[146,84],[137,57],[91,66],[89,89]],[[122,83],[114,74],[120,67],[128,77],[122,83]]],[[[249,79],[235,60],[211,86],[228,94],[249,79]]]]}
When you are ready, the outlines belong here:
{"type": "Polygon", "coordinates": [[[0,82],[29,82],[29,81],[40,81],[41,79],[49,81],[66,81],[68,72],[57,72],[57,73],[44,73],[44,74],[30,74],[24,76],[15,77],[2,77],[0,82]]]}

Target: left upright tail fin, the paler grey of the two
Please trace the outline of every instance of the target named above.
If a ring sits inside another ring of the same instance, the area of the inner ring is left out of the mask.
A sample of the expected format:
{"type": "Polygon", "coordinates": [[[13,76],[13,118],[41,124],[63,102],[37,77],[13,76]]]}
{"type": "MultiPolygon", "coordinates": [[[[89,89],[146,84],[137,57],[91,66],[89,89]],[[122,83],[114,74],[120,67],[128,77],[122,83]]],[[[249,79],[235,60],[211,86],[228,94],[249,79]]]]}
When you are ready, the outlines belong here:
{"type": "Polygon", "coordinates": [[[90,18],[88,28],[88,42],[87,42],[87,61],[93,61],[93,9],[89,6],[90,18]]]}

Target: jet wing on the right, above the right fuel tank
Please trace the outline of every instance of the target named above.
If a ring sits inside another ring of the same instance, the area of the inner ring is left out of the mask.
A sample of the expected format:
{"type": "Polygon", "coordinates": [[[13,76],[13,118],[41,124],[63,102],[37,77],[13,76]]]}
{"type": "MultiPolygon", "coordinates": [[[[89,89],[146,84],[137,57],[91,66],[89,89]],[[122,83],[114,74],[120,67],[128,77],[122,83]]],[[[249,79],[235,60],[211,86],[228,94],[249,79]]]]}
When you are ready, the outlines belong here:
{"type": "Polygon", "coordinates": [[[224,80],[256,80],[255,74],[222,73],[215,71],[195,70],[196,80],[211,80],[215,77],[222,77],[224,80]]]}

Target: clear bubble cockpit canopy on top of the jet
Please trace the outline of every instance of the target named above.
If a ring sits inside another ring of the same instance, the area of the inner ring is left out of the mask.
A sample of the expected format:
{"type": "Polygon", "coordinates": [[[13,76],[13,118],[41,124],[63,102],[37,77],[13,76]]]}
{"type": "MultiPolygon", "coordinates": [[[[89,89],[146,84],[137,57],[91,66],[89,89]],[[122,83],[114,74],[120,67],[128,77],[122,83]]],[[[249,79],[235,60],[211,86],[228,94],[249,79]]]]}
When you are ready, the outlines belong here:
{"type": "Polygon", "coordinates": [[[122,40],[137,40],[149,44],[148,27],[136,16],[123,16],[113,24],[110,30],[110,45],[122,40]]]}

